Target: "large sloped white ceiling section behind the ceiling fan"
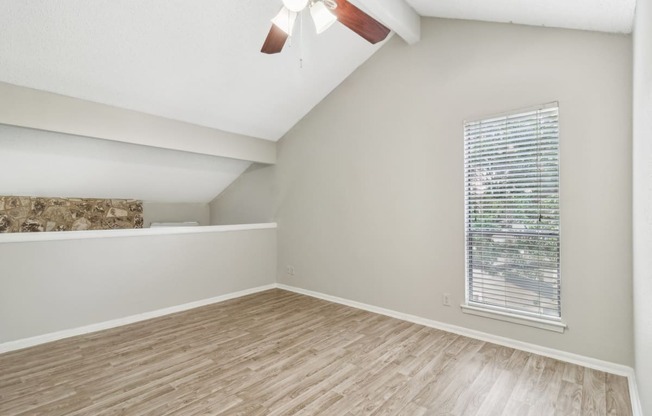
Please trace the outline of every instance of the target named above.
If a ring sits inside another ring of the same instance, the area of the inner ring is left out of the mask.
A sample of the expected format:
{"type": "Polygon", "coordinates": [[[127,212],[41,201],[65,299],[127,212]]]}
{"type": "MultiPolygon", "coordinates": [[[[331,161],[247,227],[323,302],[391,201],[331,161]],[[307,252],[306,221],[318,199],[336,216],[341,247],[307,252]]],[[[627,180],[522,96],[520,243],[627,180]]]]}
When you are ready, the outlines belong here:
{"type": "Polygon", "coordinates": [[[0,81],[278,140],[380,47],[340,24],[316,36],[304,16],[291,47],[262,54],[280,7],[0,0],[0,81]]]}

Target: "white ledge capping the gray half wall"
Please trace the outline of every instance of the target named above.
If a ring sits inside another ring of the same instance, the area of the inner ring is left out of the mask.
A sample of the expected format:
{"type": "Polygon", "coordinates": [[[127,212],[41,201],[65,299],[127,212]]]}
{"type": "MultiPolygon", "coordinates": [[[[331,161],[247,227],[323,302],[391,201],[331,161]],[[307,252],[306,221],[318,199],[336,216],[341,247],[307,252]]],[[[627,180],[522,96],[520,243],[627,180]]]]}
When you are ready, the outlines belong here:
{"type": "Polygon", "coordinates": [[[87,230],[60,232],[53,231],[47,233],[6,233],[0,234],[0,244],[56,240],[83,240],[88,238],[146,237],[156,235],[221,233],[229,231],[275,229],[277,227],[278,225],[275,222],[268,222],[258,224],[209,225],[202,227],[162,227],[124,230],[87,230]]]}

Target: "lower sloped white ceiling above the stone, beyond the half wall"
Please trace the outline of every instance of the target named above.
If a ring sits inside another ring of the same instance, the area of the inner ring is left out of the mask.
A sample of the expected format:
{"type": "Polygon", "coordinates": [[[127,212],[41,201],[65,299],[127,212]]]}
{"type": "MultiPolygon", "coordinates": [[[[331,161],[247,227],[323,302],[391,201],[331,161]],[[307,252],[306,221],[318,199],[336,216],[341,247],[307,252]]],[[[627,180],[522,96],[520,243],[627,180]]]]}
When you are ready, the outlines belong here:
{"type": "Polygon", "coordinates": [[[243,160],[0,125],[0,195],[206,203],[243,160]]]}

